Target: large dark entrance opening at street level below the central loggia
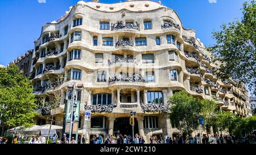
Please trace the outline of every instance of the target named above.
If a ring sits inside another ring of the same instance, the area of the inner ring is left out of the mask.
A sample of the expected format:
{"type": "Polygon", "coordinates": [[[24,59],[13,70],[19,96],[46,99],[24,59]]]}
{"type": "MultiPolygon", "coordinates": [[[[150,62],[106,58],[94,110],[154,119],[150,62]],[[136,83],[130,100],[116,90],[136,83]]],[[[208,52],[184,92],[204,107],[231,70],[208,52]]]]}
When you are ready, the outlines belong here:
{"type": "MultiPolygon", "coordinates": [[[[133,136],[133,128],[130,125],[130,118],[117,118],[114,122],[114,135],[117,134],[133,136]]],[[[134,136],[139,133],[137,119],[134,119],[134,136]]]]}

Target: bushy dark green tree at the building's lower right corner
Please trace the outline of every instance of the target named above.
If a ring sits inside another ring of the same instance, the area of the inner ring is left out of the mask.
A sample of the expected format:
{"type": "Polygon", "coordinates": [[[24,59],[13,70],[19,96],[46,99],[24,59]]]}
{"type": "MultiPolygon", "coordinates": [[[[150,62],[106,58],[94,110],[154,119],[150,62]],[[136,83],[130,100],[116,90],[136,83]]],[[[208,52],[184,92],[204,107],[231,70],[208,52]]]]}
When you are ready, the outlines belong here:
{"type": "Polygon", "coordinates": [[[199,127],[199,118],[202,108],[200,99],[193,98],[185,91],[175,93],[169,100],[171,103],[170,119],[177,124],[180,131],[191,133],[199,127]]]}

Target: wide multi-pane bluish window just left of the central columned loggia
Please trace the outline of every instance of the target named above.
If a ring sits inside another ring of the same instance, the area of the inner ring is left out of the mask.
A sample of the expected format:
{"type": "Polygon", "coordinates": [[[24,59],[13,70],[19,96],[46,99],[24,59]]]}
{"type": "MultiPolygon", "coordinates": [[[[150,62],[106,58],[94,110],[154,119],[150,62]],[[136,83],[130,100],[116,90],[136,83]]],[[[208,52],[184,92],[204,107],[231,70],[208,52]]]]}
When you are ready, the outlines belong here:
{"type": "Polygon", "coordinates": [[[93,105],[112,104],[112,94],[99,93],[93,95],[93,105]]]}

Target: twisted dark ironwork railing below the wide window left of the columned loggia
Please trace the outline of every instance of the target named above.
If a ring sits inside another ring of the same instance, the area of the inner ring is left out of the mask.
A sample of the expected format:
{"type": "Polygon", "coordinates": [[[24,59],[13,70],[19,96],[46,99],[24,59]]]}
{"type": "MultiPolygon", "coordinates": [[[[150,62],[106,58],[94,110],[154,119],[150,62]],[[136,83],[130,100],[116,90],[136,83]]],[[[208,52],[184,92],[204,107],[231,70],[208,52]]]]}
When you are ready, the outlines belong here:
{"type": "Polygon", "coordinates": [[[106,104],[106,105],[102,105],[102,104],[88,105],[86,103],[84,106],[85,110],[90,110],[92,113],[102,113],[102,112],[110,113],[113,111],[113,108],[115,107],[117,107],[117,103],[106,104]]]}

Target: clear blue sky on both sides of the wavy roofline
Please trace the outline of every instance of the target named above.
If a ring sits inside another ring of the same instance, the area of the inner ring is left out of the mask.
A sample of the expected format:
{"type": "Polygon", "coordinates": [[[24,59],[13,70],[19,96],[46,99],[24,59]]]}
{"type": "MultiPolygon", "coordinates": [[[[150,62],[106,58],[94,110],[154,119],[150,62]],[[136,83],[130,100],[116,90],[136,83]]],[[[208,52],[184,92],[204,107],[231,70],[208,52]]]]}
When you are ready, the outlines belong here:
{"type": "MultiPolygon", "coordinates": [[[[43,24],[59,19],[69,6],[78,1],[0,0],[0,64],[7,65],[28,49],[34,48],[34,40],[40,36],[43,24]]],[[[245,0],[162,0],[164,6],[177,12],[184,27],[196,30],[197,37],[208,46],[214,44],[212,31],[219,30],[221,23],[241,18],[243,2],[245,0]]]]}

